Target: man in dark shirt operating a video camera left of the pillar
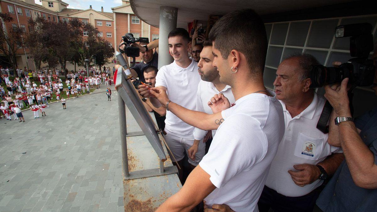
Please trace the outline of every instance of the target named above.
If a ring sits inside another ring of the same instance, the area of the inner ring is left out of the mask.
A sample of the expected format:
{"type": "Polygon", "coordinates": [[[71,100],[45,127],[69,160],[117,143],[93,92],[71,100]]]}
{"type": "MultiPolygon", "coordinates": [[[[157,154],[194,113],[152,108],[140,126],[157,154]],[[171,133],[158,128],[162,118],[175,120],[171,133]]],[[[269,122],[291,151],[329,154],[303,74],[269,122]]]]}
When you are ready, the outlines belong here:
{"type": "MultiPolygon", "coordinates": [[[[140,49],[141,63],[136,63],[135,66],[131,67],[131,73],[133,77],[139,77],[139,80],[146,82],[144,78],[144,70],[149,66],[158,67],[158,40],[154,40],[148,44],[146,43],[132,43],[130,46],[134,46],[140,49]],[[157,48],[155,53],[153,49],[157,48]]],[[[121,45],[120,48],[124,49],[125,45],[121,45]]],[[[118,68],[116,65],[115,68],[118,68]]]]}

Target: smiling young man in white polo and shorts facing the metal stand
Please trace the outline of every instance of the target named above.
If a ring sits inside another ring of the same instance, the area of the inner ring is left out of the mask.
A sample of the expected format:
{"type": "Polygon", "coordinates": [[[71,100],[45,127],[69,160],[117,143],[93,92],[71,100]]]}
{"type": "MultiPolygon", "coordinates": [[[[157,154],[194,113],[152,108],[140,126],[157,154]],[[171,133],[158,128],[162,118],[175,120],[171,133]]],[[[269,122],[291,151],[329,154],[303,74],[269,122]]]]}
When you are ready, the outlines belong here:
{"type": "MultiPolygon", "coordinates": [[[[169,33],[168,40],[169,51],[174,61],[159,69],[156,75],[155,86],[164,89],[172,101],[177,102],[185,108],[195,110],[196,92],[198,90],[200,75],[198,73],[198,63],[189,58],[189,50],[191,47],[189,32],[182,28],[174,29],[169,33]]],[[[141,88],[143,88],[143,86],[141,88]]],[[[147,95],[143,97],[153,97],[153,95],[147,93],[147,95]]],[[[150,102],[156,108],[161,107],[161,104],[156,98],[150,98],[150,102]]],[[[193,131],[193,126],[184,123],[184,121],[176,117],[172,112],[166,112],[166,135],[164,138],[180,167],[182,167],[184,151],[187,153],[194,143],[193,131]]],[[[205,145],[199,146],[195,160],[189,158],[189,163],[193,166],[197,166],[204,156],[204,151],[205,145]]],[[[181,169],[178,171],[179,179],[182,182],[182,171],[181,169]]]]}

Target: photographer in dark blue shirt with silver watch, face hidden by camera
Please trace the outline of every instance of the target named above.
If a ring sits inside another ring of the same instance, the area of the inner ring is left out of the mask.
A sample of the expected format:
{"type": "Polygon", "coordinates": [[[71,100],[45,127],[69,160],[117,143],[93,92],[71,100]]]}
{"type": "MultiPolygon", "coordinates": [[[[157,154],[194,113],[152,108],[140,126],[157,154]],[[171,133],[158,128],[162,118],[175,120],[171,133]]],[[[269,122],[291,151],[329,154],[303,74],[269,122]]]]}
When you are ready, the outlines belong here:
{"type": "MultiPolygon", "coordinates": [[[[375,48],[376,49],[376,48],[375,48]]],[[[373,54],[377,65],[377,52],[373,54]]],[[[352,117],[347,95],[348,78],[340,86],[325,86],[325,97],[334,108],[334,117],[352,117]]],[[[377,69],[372,89],[377,95],[377,69]]],[[[344,120],[344,119],[343,119],[344,120]]],[[[377,198],[377,108],[352,121],[341,120],[330,129],[338,133],[329,135],[329,143],[340,146],[345,161],[323,189],[317,205],[323,211],[375,211],[377,198]],[[330,139],[330,136],[332,139],[330,139]]]]}

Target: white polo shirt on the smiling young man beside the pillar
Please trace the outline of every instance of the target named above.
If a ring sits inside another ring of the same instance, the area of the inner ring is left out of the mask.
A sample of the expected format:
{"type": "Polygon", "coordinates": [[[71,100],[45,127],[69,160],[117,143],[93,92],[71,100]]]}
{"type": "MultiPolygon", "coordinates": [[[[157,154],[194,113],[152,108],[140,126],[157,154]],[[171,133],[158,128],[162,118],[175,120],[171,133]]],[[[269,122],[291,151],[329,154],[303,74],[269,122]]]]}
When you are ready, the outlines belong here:
{"type": "MultiPolygon", "coordinates": [[[[198,63],[192,60],[187,68],[182,68],[173,63],[162,66],[156,75],[156,87],[167,88],[170,101],[184,108],[196,109],[196,92],[201,80],[198,72],[198,63]]],[[[165,131],[180,138],[193,138],[194,127],[186,124],[172,112],[166,111],[165,131]]]]}

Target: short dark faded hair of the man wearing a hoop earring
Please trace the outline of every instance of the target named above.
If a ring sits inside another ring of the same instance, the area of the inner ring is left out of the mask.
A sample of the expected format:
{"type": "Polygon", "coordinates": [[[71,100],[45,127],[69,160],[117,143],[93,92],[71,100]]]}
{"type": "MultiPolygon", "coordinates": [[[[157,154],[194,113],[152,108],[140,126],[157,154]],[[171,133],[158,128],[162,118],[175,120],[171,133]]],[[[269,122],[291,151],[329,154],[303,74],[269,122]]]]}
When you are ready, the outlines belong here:
{"type": "Polygon", "coordinates": [[[251,74],[263,75],[267,54],[267,35],[264,23],[252,9],[230,12],[220,18],[208,35],[215,41],[215,48],[224,59],[230,51],[237,50],[245,55],[251,74]]]}

